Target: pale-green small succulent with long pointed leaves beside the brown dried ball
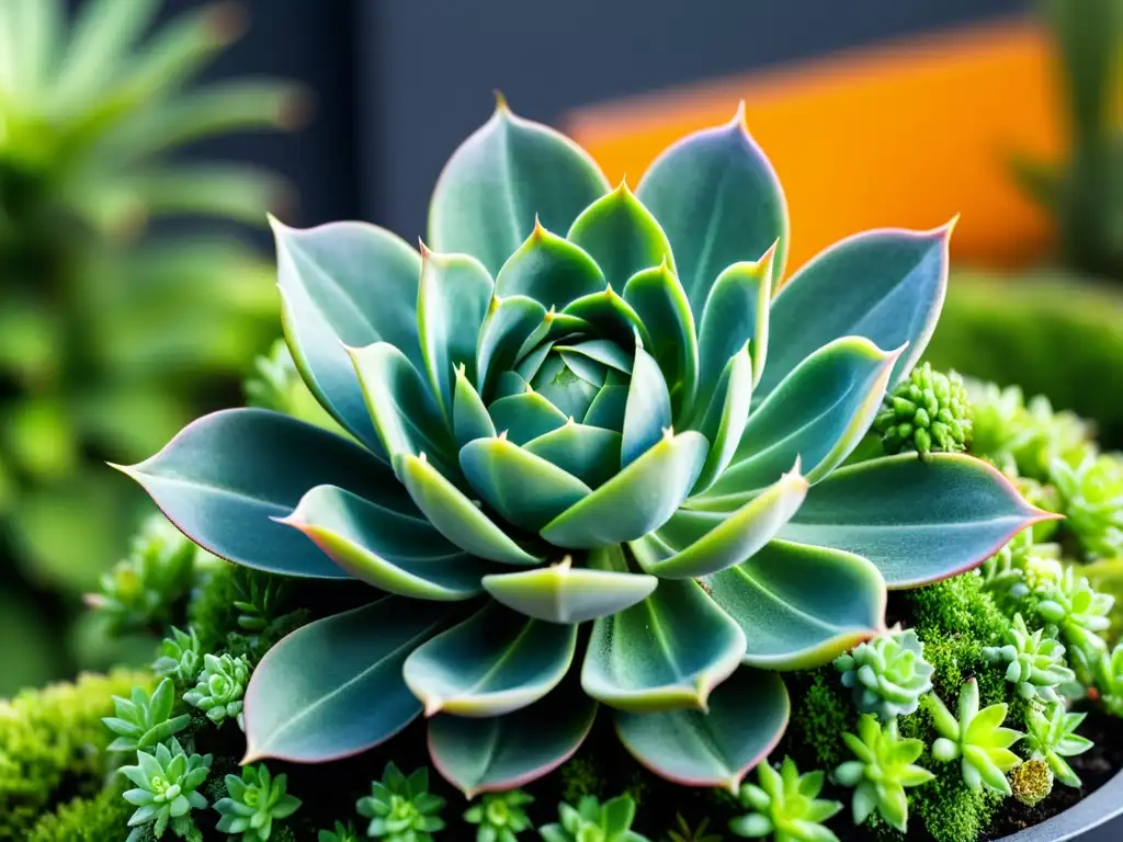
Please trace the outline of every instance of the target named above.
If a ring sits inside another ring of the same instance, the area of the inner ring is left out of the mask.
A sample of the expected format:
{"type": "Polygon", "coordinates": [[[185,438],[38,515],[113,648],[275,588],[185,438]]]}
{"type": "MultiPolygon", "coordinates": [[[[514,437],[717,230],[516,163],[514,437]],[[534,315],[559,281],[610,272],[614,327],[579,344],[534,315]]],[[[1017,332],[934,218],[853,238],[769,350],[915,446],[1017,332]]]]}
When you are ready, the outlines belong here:
{"type": "Polygon", "coordinates": [[[1010,747],[1024,734],[1002,727],[1006,705],[996,704],[979,710],[979,688],[974,678],[959,690],[958,716],[953,716],[934,693],[931,699],[932,720],[940,738],[932,743],[932,757],[943,763],[960,760],[964,781],[973,791],[984,788],[1010,795],[1005,772],[1021,762],[1010,747]]]}

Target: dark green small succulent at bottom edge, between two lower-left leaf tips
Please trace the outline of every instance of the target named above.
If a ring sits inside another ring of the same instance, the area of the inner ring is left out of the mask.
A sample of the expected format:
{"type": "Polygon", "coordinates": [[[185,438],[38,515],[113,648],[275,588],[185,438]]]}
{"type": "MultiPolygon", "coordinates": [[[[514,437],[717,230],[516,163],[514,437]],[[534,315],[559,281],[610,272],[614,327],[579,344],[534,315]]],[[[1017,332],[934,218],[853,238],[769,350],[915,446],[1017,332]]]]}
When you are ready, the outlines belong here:
{"type": "Polygon", "coordinates": [[[371,795],[358,799],[358,814],[369,818],[366,835],[386,842],[432,842],[445,829],[440,817],[445,799],[429,791],[429,769],[422,767],[407,777],[386,763],[382,781],[371,784],[371,795]]]}

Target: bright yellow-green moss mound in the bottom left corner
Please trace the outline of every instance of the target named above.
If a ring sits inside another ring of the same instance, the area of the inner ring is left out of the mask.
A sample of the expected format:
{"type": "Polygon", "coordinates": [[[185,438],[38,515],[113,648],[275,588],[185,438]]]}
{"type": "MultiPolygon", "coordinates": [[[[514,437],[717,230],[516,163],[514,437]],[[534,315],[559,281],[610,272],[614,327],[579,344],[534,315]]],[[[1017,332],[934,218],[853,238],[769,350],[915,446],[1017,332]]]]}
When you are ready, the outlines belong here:
{"type": "Polygon", "coordinates": [[[0,839],[24,839],[63,790],[67,797],[98,791],[113,738],[101,722],[113,712],[110,697],[154,684],[149,674],[122,670],[0,702],[0,839]]]}

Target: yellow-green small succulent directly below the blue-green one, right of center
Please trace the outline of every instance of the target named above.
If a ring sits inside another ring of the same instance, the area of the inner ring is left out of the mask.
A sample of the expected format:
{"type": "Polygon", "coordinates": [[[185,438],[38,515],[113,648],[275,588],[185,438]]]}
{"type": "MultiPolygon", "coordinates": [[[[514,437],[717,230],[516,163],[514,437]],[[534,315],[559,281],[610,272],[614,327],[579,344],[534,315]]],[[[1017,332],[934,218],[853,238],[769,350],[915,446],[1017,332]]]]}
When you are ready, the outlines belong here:
{"type": "Polygon", "coordinates": [[[924,743],[902,739],[895,719],[883,727],[870,714],[858,719],[857,736],[844,733],[842,739],[858,759],[836,769],[834,779],[842,786],[855,787],[851,805],[855,824],[865,823],[876,809],[891,827],[904,833],[909,825],[905,788],[921,786],[934,777],[915,765],[924,752],[924,743]]]}

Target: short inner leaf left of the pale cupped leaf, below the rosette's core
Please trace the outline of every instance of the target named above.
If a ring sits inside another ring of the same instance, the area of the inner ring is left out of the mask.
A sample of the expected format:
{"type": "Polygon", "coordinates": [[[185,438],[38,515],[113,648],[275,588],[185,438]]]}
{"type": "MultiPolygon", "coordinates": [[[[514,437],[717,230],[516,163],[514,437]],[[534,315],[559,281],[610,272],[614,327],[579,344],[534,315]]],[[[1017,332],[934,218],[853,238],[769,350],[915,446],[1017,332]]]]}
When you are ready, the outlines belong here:
{"type": "Polygon", "coordinates": [[[465,445],[460,467],[485,503],[508,522],[532,532],[592,491],[572,474],[503,438],[465,445]]]}

